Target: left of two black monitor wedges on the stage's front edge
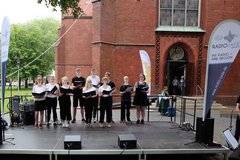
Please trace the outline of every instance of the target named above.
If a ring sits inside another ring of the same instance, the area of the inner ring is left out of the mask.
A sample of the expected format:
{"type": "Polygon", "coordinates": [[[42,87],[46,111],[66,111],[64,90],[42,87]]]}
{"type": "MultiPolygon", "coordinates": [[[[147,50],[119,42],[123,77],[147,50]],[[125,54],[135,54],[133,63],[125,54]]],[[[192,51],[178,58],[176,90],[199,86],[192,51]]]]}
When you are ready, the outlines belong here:
{"type": "Polygon", "coordinates": [[[81,149],[82,138],[80,135],[65,135],[64,149],[81,149]]]}

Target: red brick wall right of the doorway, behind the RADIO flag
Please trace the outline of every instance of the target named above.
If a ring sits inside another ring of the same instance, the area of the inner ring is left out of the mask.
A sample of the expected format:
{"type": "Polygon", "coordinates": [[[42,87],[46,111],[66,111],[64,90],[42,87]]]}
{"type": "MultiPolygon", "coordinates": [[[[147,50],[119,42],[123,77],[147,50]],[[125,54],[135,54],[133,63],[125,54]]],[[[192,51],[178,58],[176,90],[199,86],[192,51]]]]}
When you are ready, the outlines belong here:
{"type": "MultiPolygon", "coordinates": [[[[212,30],[215,26],[223,20],[226,19],[236,19],[240,20],[240,0],[209,0],[202,1],[203,7],[202,10],[202,27],[206,31],[204,37],[204,45],[208,45],[208,41],[211,35],[212,30]]],[[[207,47],[204,49],[204,57],[207,54],[207,47]]],[[[240,95],[240,85],[238,80],[240,79],[240,56],[235,59],[223,85],[221,86],[219,92],[217,93],[217,101],[223,102],[225,104],[234,104],[236,100],[236,95],[240,95]],[[238,80],[237,80],[238,79],[238,80]],[[233,96],[233,98],[231,98],[233,96]]],[[[202,81],[205,81],[205,66],[206,58],[204,58],[202,69],[202,81]]]]}

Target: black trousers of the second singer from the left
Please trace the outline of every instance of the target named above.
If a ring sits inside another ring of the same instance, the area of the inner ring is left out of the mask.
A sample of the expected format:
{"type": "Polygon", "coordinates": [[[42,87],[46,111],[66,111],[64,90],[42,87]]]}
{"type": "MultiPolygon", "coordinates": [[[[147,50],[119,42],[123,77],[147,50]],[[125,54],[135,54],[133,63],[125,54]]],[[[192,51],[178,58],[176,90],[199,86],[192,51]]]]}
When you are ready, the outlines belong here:
{"type": "Polygon", "coordinates": [[[50,121],[51,118],[51,111],[53,111],[53,121],[57,121],[57,97],[56,98],[46,98],[46,105],[47,105],[47,122],[50,121]]]}

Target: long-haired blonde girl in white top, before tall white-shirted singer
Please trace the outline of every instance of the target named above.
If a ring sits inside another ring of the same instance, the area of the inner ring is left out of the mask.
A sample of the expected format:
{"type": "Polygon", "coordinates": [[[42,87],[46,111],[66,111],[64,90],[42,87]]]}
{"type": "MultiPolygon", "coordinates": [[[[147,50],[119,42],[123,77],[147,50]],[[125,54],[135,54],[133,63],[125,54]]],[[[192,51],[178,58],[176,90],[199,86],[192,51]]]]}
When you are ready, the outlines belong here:
{"type": "Polygon", "coordinates": [[[85,106],[85,117],[87,127],[92,127],[92,111],[95,103],[95,98],[97,97],[96,88],[93,87],[92,81],[87,80],[85,87],[83,88],[83,99],[85,106]]]}

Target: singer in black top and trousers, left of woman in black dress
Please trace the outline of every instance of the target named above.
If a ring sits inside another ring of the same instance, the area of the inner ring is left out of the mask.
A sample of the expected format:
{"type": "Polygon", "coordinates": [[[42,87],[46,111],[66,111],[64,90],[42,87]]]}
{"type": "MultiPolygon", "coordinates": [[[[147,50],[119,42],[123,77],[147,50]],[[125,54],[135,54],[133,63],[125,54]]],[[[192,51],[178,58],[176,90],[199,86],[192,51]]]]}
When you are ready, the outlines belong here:
{"type": "Polygon", "coordinates": [[[127,121],[130,120],[131,94],[133,87],[128,83],[128,76],[123,77],[124,84],[120,87],[121,93],[121,122],[125,121],[125,109],[127,109],[127,121]]]}

